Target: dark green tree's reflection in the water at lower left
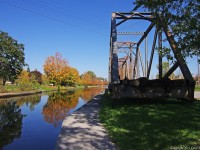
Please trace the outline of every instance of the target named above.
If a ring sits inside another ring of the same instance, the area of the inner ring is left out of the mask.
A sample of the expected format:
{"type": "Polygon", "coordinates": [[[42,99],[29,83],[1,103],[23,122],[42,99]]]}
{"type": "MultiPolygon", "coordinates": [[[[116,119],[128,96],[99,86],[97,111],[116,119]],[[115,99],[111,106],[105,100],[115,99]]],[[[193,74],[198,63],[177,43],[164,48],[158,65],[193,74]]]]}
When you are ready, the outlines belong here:
{"type": "Polygon", "coordinates": [[[16,102],[0,101],[0,149],[20,138],[23,117],[16,102]]]}

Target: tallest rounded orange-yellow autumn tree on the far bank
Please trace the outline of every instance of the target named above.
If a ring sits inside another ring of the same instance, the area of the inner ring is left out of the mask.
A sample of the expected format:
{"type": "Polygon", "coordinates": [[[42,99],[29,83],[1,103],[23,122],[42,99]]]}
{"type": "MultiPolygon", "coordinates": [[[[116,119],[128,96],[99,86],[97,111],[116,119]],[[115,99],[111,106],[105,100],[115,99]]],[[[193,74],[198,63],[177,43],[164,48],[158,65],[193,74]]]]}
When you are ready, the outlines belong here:
{"type": "Polygon", "coordinates": [[[51,83],[54,83],[60,88],[61,83],[65,80],[66,68],[69,67],[66,59],[62,58],[60,53],[55,56],[49,56],[44,63],[44,72],[51,83]]]}

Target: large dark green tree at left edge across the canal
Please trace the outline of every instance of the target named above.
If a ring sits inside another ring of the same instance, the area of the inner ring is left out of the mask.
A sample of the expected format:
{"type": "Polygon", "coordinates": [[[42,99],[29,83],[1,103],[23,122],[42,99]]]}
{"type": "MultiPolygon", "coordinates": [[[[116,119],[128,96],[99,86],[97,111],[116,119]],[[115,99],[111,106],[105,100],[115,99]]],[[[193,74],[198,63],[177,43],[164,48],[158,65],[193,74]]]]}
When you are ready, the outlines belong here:
{"type": "Polygon", "coordinates": [[[0,31],[0,78],[14,82],[25,66],[24,45],[19,44],[8,33],[0,31]]]}

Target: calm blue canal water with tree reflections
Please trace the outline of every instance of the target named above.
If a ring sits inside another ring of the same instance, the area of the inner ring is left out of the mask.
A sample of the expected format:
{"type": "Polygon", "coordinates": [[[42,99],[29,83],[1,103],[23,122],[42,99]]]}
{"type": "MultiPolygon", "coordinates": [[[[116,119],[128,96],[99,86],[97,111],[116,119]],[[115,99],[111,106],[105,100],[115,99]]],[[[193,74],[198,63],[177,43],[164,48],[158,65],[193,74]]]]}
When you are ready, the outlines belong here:
{"type": "Polygon", "coordinates": [[[62,121],[103,88],[0,100],[0,150],[54,150],[62,121]]]}

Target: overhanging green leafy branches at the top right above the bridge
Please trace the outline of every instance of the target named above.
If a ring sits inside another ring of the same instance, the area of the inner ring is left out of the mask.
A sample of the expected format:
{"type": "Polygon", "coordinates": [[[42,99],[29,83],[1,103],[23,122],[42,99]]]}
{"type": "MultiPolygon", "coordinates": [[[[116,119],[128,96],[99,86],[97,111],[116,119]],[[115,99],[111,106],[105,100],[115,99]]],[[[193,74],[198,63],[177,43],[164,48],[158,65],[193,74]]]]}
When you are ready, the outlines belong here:
{"type": "Polygon", "coordinates": [[[184,57],[200,55],[199,0],[137,0],[134,4],[133,11],[148,8],[157,25],[170,27],[184,57]]]}

